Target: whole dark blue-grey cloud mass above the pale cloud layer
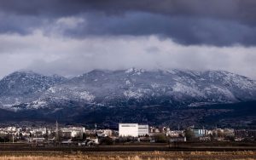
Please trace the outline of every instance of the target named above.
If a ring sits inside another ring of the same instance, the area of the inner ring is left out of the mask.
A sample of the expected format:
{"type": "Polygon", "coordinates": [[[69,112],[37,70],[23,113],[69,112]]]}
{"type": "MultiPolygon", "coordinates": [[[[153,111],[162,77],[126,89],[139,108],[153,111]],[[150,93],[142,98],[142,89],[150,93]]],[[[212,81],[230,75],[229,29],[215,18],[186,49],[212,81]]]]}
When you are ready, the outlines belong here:
{"type": "Polygon", "coordinates": [[[55,20],[79,17],[69,37],[160,35],[182,44],[256,44],[255,0],[3,0],[0,32],[51,31],[55,20]]]}

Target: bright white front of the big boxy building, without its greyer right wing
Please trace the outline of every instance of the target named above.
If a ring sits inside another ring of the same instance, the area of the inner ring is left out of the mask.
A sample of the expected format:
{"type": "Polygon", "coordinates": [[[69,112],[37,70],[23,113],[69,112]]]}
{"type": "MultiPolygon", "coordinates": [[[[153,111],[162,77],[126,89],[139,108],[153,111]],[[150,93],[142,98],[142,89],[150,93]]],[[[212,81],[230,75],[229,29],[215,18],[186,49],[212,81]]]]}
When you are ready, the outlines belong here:
{"type": "Polygon", "coordinates": [[[138,137],[137,123],[119,123],[119,137],[138,137]]]}

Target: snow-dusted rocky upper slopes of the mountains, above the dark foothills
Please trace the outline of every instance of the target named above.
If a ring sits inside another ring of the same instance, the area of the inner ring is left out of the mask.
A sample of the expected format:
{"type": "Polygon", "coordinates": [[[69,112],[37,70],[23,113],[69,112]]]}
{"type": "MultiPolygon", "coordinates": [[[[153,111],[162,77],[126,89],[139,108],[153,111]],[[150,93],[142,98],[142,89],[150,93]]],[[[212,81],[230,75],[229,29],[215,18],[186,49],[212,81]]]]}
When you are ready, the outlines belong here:
{"type": "Polygon", "coordinates": [[[70,106],[174,107],[256,99],[256,82],[228,71],[95,70],[67,79],[16,71],[0,81],[0,106],[7,110],[70,106]],[[22,107],[20,107],[22,106],[22,107]]]}

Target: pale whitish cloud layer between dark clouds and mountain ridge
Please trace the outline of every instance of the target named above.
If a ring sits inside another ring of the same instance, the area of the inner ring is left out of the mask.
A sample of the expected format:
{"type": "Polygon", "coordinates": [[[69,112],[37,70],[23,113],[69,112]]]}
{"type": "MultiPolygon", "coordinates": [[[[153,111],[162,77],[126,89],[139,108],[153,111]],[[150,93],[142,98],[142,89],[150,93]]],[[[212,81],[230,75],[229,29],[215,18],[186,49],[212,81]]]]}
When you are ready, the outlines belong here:
{"type": "Polygon", "coordinates": [[[182,68],[226,70],[256,79],[256,48],[183,46],[172,39],[146,37],[88,37],[2,35],[1,76],[19,68],[44,74],[76,76],[94,69],[182,68]],[[16,46],[16,48],[12,48],[16,46]]]}

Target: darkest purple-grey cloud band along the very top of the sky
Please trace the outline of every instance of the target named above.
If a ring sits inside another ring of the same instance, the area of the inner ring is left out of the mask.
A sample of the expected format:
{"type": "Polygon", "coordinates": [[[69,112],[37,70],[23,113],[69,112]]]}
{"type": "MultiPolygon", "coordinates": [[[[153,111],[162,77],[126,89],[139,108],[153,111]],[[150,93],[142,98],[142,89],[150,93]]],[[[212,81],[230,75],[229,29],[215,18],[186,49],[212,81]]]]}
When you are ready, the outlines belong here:
{"type": "Polygon", "coordinates": [[[15,14],[63,16],[99,10],[108,14],[127,11],[212,17],[255,23],[254,0],[2,0],[0,9],[15,14]]]}

